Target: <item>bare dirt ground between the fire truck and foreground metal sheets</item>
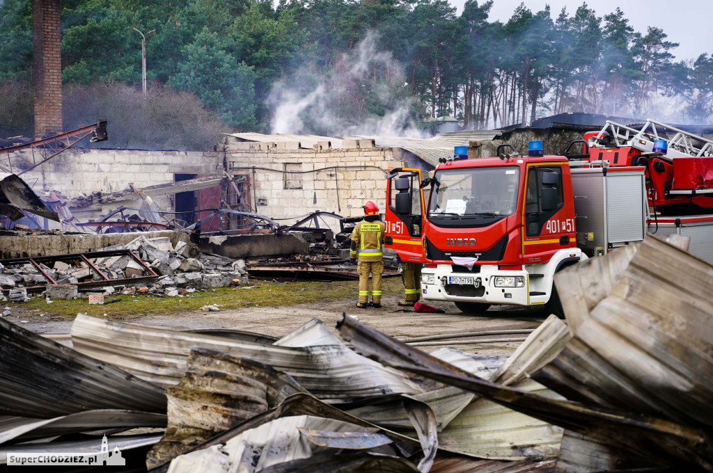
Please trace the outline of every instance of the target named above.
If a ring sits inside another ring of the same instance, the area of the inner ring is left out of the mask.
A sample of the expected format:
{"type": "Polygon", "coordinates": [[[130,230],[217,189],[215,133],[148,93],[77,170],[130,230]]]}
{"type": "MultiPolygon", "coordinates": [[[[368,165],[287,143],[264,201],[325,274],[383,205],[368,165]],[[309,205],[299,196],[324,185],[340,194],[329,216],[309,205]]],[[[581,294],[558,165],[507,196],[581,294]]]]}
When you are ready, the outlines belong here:
{"type": "MultiPolygon", "coordinates": [[[[279,294],[275,294],[279,298],[279,294]]],[[[250,307],[227,309],[219,312],[188,311],[183,313],[151,314],[139,316],[113,316],[113,320],[135,323],[141,326],[170,328],[173,330],[194,330],[201,328],[232,328],[282,337],[307,323],[319,318],[332,327],[342,318],[342,313],[359,316],[359,321],[396,338],[428,336],[441,333],[463,333],[481,330],[501,330],[513,328],[535,328],[547,318],[548,311],[542,307],[493,306],[479,314],[465,314],[458,311],[453,303],[426,301],[431,306],[443,308],[440,313],[404,312],[396,305],[399,296],[388,295],[382,300],[382,308],[356,308],[354,298],[321,303],[303,303],[276,307],[250,307]]],[[[40,315],[39,310],[13,308],[6,318],[14,323],[22,323],[37,333],[69,333],[71,318],[40,315]]],[[[520,335],[488,336],[488,338],[514,338],[520,335]]],[[[469,337],[472,338],[472,337],[469,337]]],[[[449,343],[459,350],[483,355],[511,355],[519,342],[468,344],[449,343]]],[[[424,347],[431,351],[440,346],[424,347]]]]}

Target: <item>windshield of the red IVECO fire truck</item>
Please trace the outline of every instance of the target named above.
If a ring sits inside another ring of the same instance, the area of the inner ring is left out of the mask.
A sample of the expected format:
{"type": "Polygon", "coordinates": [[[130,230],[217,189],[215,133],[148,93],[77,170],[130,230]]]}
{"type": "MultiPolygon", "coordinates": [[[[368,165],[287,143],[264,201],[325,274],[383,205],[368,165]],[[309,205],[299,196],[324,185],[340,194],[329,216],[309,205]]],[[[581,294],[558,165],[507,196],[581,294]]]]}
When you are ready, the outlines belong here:
{"type": "Polygon", "coordinates": [[[434,175],[428,218],[438,225],[463,224],[464,219],[491,224],[515,212],[518,167],[468,167],[440,170],[434,175]]]}

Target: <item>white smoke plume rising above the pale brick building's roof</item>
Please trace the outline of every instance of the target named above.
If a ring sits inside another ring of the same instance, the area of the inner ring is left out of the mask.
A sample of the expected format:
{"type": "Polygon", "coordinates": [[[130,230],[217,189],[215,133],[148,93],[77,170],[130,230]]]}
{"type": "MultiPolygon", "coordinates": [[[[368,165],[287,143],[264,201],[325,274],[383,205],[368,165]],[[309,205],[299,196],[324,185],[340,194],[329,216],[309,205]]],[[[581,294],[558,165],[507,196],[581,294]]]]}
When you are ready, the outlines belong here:
{"type": "Polygon", "coordinates": [[[416,104],[406,93],[409,84],[391,53],[379,51],[377,43],[376,34],[367,33],[312,85],[299,74],[275,84],[267,98],[270,132],[422,137],[416,104]],[[368,113],[374,103],[384,115],[368,113]]]}

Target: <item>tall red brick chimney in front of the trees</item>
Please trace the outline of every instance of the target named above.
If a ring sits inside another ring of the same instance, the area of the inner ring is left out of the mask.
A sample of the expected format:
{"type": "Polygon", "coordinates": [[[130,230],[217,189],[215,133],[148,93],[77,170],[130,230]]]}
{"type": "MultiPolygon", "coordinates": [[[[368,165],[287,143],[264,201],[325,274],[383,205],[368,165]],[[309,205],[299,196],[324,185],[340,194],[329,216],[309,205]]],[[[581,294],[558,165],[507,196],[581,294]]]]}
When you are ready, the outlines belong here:
{"type": "Polygon", "coordinates": [[[59,0],[32,0],[32,86],[35,136],[62,132],[59,0]]]}

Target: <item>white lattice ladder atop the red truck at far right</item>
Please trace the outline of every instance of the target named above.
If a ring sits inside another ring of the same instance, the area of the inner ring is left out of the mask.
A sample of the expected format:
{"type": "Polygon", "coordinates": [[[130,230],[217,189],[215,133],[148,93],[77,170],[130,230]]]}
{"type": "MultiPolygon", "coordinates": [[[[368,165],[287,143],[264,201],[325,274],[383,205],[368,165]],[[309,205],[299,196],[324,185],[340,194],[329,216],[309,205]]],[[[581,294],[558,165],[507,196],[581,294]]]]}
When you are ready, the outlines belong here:
{"type": "Polygon", "coordinates": [[[666,140],[668,142],[666,156],[670,159],[691,156],[713,157],[712,140],[651,119],[647,120],[640,130],[607,120],[595,140],[605,143],[602,140],[605,136],[610,137],[612,140],[611,145],[616,145],[617,147],[631,146],[640,150],[642,155],[653,152],[655,140],[666,140]],[[666,131],[674,131],[676,134],[671,139],[659,135],[659,132],[666,131]]]}

